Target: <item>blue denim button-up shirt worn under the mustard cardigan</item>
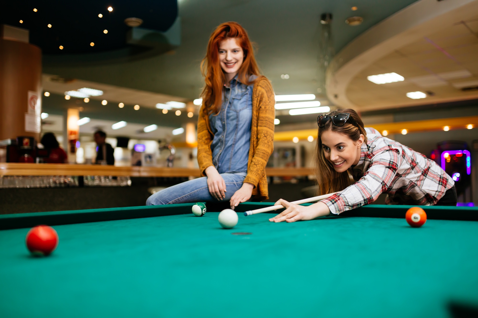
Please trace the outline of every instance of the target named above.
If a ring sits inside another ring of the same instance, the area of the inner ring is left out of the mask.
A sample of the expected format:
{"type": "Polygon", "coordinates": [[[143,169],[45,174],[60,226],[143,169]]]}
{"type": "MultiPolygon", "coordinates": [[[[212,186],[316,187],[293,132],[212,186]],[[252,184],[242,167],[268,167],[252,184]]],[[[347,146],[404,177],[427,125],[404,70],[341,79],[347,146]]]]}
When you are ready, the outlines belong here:
{"type": "Polygon", "coordinates": [[[224,86],[219,114],[209,115],[212,161],[219,173],[247,173],[253,86],[240,83],[236,75],[230,88],[224,86]]]}

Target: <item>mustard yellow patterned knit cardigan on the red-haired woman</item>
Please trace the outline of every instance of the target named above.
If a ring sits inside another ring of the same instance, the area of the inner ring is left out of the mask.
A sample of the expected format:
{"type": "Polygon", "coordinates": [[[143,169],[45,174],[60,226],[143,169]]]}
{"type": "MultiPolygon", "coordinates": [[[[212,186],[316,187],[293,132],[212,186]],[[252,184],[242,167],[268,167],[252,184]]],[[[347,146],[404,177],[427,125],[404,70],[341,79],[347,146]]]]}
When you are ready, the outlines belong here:
{"type": "MultiPolygon", "coordinates": [[[[247,163],[247,176],[244,182],[254,186],[252,196],[255,200],[262,201],[269,198],[265,167],[274,148],[274,91],[269,80],[265,77],[254,83],[252,90],[252,125],[250,131],[249,160],[247,163]]],[[[211,143],[214,137],[209,116],[204,114],[203,106],[199,110],[197,120],[197,162],[201,174],[212,166],[211,143]]]]}

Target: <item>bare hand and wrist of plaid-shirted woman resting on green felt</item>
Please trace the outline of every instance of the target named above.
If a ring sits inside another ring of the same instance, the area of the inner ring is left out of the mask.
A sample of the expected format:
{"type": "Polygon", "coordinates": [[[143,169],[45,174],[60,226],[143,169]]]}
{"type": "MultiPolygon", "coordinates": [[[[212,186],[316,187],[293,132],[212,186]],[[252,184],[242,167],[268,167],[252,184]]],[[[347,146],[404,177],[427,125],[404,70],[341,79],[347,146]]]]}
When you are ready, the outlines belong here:
{"type": "Polygon", "coordinates": [[[269,221],[271,222],[307,221],[330,214],[330,210],[324,202],[303,206],[280,199],[275,202],[274,205],[283,205],[285,210],[273,218],[270,218],[269,221]]]}

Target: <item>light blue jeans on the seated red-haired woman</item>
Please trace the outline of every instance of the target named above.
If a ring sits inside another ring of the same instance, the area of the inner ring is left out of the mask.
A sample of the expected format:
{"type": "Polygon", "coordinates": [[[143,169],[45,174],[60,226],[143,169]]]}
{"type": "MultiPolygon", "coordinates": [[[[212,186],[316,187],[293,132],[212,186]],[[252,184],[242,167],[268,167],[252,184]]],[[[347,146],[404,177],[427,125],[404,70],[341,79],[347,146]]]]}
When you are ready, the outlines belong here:
{"type": "MultiPolygon", "coordinates": [[[[229,201],[234,194],[242,187],[246,178],[246,173],[221,173],[221,177],[226,183],[226,197],[224,201],[229,201]]],[[[146,200],[146,205],[160,205],[173,203],[189,203],[202,201],[217,201],[207,188],[207,177],[201,177],[176,184],[169,188],[154,193],[146,200]]]]}

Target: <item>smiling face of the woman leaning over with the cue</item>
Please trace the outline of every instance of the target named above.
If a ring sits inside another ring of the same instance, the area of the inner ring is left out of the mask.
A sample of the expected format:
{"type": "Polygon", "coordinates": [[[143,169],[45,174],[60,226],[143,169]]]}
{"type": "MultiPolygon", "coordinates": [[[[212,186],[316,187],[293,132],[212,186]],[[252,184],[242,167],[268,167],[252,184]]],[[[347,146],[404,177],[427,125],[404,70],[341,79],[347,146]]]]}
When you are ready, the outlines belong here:
{"type": "Polygon", "coordinates": [[[320,138],[324,156],[332,163],[337,172],[344,172],[352,165],[359,163],[360,148],[364,141],[363,135],[360,135],[359,140],[353,141],[345,134],[326,130],[320,138]]]}

